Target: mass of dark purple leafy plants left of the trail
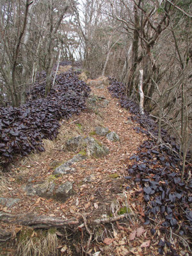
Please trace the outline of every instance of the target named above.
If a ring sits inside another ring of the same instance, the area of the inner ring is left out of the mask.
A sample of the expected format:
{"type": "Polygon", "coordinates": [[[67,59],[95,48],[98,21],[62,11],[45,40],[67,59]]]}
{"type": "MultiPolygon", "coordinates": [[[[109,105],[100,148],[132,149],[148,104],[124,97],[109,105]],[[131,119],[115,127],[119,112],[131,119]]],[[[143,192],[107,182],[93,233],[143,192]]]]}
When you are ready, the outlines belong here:
{"type": "Polygon", "coordinates": [[[28,92],[28,102],[20,108],[0,108],[0,157],[10,161],[15,154],[43,151],[42,139],[58,134],[61,118],[70,118],[84,108],[90,88],[72,72],[56,76],[56,85],[45,94],[45,72],[28,92]]]}

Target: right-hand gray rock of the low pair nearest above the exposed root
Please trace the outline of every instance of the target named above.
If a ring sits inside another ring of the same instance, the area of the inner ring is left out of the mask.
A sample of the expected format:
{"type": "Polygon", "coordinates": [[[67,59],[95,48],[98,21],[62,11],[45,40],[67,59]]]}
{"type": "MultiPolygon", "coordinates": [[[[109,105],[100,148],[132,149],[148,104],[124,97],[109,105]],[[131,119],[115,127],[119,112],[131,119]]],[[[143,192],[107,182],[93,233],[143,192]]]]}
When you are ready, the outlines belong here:
{"type": "Polygon", "coordinates": [[[72,182],[67,181],[58,187],[56,193],[54,194],[54,198],[60,202],[65,202],[67,198],[69,198],[73,194],[74,190],[72,182]]]}

